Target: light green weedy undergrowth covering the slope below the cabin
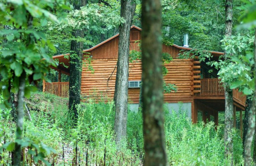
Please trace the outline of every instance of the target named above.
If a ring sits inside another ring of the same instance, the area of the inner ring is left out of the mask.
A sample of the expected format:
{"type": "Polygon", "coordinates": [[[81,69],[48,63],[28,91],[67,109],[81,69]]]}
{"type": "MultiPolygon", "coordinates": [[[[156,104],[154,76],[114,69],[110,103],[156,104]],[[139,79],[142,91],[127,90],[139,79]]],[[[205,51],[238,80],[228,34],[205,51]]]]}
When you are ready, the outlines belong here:
{"type": "MultiPolygon", "coordinates": [[[[33,94],[26,103],[32,121],[24,120],[24,136],[52,147],[55,153],[46,160],[55,165],[133,165],[143,163],[143,130],[141,111],[128,110],[127,139],[121,151],[114,141],[113,102],[95,103],[89,100],[78,106],[78,122],[68,119],[68,100],[49,94],[33,94]],[[63,102],[64,101],[64,102],[63,102]]],[[[25,109],[25,113],[27,111],[25,109]]],[[[192,124],[183,110],[169,113],[165,107],[165,139],[170,165],[221,166],[230,165],[224,159],[223,127],[212,122],[192,124]]],[[[15,122],[10,110],[0,111],[0,146],[15,138],[15,122]]],[[[33,163],[23,148],[22,164],[33,163]]],[[[31,149],[30,149],[31,150],[31,149]]],[[[32,149],[33,150],[33,149],[32,149]]],[[[241,165],[242,143],[234,133],[234,160],[241,165]]],[[[0,149],[0,163],[11,165],[12,154],[0,149]]],[[[39,165],[41,165],[39,163],[39,165]]]]}

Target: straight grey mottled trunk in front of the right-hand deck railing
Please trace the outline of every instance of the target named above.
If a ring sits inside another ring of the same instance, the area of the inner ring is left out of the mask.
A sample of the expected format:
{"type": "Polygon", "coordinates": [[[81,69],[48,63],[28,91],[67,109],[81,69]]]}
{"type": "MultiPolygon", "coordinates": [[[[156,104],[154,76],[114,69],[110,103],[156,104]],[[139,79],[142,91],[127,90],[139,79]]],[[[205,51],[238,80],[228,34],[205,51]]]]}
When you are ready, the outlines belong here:
{"type": "MultiPolygon", "coordinates": [[[[232,19],[233,19],[233,2],[232,0],[226,0],[226,26],[225,36],[229,37],[232,35],[232,19]]],[[[226,51],[225,60],[228,60],[226,51]]],[[[231,159],[231,165],[233,165],[233,91],[230,89],[228,83],[224,84],[225,88],[225,128],[224,128],[224,141],[225,141],[225,157],[231,159]]]]}

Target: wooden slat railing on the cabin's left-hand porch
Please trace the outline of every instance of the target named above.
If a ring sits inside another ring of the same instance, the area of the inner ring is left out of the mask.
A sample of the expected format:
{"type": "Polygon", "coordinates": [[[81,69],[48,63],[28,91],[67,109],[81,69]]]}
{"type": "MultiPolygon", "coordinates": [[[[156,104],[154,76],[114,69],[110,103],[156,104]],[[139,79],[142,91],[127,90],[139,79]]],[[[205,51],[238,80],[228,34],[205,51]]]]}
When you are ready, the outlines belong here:
{"type": "Polygon", "coordinates": [[[69,82],[44,82],[43,92],[55,94],[60,97],[68,97],[69,82]]]}

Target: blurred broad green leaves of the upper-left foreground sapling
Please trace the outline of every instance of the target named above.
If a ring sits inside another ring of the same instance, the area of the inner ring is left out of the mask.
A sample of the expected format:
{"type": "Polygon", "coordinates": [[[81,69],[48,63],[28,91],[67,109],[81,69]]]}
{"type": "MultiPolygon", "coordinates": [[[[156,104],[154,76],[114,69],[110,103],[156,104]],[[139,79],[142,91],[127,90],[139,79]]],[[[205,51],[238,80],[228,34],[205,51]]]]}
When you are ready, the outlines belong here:
{"type": "MultiPolygon", "coordinates": [[[[36,31],[37,26],[44,26],[47,20],[54,23],[58,19],[49,10],[67,8],[65,1],[6,1],[0,4],[1,23],[5,26],[0,31],[0,74],[2,81],[0,90],[5,99],[9,99],[10,92],[15,92],[19,86],[19,78],[25,73],[28,83],[37,83],[40,79],[46,79],[45,73],[49,72],[49,66],[56,66],[48,49],[55,50],[52,43],[46,39],[42,32],[36,31]],[[45,59],[42,61],[42,59],[45,59]],[[11,86],[12,85],[12,86],[11,86]]],[[[35,87],[27,86],[25,96],[35,87]]],[[[8,105],[8,100],[1,104],[3,109],[8,105]]]]}

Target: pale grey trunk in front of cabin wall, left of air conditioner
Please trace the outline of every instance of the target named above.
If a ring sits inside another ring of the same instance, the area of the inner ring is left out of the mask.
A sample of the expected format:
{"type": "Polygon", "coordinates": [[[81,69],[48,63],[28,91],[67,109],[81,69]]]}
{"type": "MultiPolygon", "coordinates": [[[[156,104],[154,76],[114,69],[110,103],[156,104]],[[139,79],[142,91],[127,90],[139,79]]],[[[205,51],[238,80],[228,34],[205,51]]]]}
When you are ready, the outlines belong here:
{"type": "Polygon", "coordinates": [[[114,102],[115,115],[115,141],[120,148],[121,140],[126,139],[126,123],[128,109],[128,77],[129,77],[129,47],[131,25],[131,0],[121,0],[121,17],[125,23],[119,26],[118,60],[116,71],[116,85],[114,102]]]}

